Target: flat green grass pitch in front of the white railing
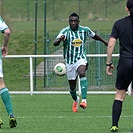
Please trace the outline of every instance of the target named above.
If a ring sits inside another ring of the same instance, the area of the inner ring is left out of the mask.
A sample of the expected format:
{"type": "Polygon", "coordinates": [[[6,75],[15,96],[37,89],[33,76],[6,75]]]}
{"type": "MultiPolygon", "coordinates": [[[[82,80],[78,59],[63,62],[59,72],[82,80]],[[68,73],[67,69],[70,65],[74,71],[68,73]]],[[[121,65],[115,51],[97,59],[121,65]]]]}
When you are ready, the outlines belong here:
{"type": "MultiPolygon", "coordinates": [[[[114,95],[88,95],[88,108],[71,111],[70,95],[11,95],[18,125],[10,129],[2,107],[0,133],[110,133],[114,95]]],[[[131,97],[127,96],[119,133],[131,130],[131,97]]]]}

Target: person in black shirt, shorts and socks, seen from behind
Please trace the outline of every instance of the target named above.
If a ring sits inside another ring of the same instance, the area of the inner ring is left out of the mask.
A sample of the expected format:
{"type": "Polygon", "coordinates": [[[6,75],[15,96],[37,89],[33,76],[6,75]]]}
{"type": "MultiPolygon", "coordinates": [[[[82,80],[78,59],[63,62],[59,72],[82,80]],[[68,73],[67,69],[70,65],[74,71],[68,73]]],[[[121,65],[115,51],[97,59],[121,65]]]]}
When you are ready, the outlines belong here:
{"type": "Polygon", "coordinates": [[[118,121],[122,112],[122,104],[129,84],[133,80],[133,0],[127,0],[126,10],[129,15],[117,20],[112,28],[107,48],[106,72],[112,76],[112,53],[119,39],[120,56],[117,66],[116,95],[112,106],[112,132],[118,131],[118,121]]]}

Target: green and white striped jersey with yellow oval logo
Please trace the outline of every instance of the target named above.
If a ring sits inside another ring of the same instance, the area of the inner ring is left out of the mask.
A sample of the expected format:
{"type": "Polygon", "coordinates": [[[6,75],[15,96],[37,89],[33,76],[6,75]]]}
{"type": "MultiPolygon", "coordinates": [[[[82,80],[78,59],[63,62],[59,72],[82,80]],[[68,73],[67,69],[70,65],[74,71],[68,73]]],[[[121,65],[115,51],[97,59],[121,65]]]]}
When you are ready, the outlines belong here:
{"type": "Polygon", "coordinates": [[[95,33],[89,27],[83,27],[79,25],[77,31],[72,31],[70,26],[63,28],[57,38],[65,35],[63,41],[64,46],[64,59],[67,64],[76,63],[79,59],[86,59],[86,50],[84,45],[86,44],[87,37],[94,37],[95,33]]]}

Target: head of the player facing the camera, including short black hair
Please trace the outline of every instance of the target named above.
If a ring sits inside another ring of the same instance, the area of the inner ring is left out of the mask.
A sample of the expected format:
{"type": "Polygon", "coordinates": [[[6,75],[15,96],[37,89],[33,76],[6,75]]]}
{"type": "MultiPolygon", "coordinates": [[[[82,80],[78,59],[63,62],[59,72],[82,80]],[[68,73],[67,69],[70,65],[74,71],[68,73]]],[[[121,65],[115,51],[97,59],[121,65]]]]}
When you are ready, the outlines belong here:
{"type": "Polygon", "coordinates": [[[80,22],[79,15],[75,12],[70,14],[68,22],[69,22],[70,28],[73,31],[77,30],[80,22]]]}

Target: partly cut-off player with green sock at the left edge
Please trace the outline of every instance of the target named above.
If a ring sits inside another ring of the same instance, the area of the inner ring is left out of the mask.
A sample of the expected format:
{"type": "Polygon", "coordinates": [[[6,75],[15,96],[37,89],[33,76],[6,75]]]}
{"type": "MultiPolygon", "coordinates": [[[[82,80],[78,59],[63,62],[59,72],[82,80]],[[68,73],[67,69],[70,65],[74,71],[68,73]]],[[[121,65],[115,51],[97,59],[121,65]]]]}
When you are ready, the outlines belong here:
{"type": "MultiPolygon", "coordinates": [[[[3,36],[4,36],[3,45],[0,50],[0,95],[9,116],[9,126],[10,128],[13,128],[13,127],[16,127],[17,122],[14,117],[10,94],[9,94],[8,88],[5,86],[5,83],[4,83],[3,70],[2,70],[2,57],[5,57],[8,54],[8,42],[10,38],[10,29],[3,21],[1,16],[0,16],[0,31],[1,33],[3,33],[3,36]]],[[[3,122],[2,120],[0,120],[0,128],[2,124],[3,122]]]]}

